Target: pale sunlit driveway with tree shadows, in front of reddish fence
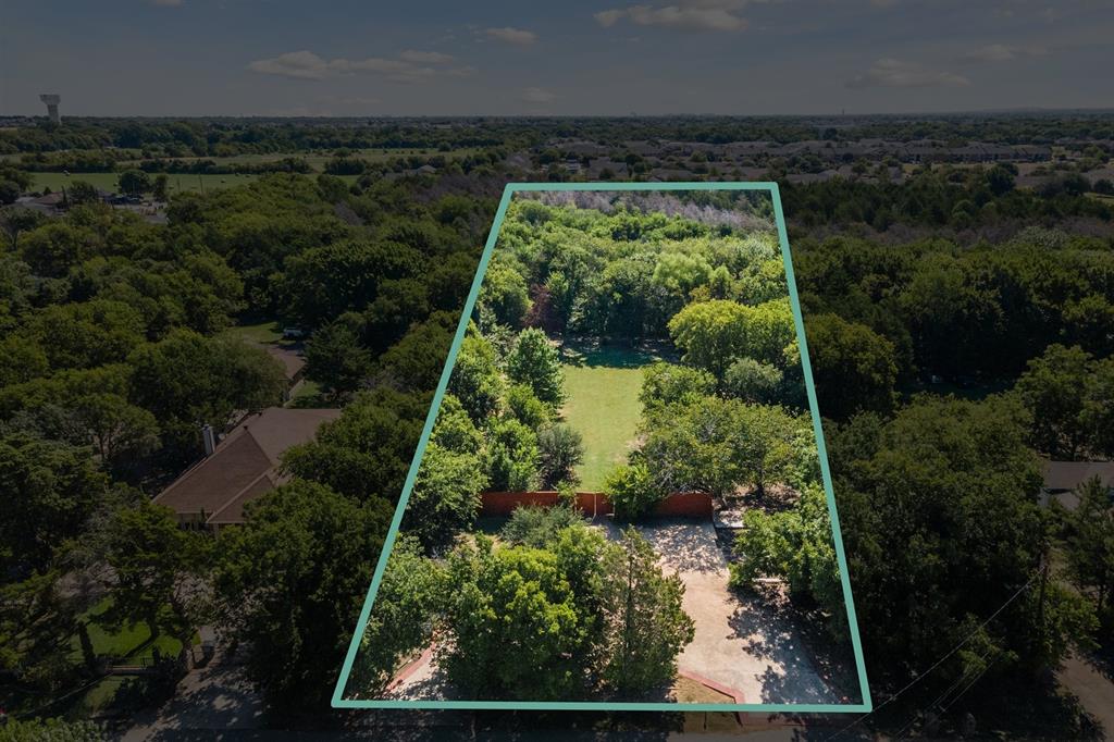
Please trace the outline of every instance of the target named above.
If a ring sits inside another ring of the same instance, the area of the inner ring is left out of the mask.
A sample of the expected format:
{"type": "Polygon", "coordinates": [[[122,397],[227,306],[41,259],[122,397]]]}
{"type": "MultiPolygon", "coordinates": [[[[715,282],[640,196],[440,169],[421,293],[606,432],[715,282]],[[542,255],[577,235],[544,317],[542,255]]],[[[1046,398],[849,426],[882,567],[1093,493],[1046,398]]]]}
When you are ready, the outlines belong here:
{"type": "Polygon", "coordinates": [[[727,560],[710,521],[659,520],[638,530],[685,584],[696,636],[680,670],[741,691],[745,703],[841,703],[785,612],[727,589],[727,560]]]}

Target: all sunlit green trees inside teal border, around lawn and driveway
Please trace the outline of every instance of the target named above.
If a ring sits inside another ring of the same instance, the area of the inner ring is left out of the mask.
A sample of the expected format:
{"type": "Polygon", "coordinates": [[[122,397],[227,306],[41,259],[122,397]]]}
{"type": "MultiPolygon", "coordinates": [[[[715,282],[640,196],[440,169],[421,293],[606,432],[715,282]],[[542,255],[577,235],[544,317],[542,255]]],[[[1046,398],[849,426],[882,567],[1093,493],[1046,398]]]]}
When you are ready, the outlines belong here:
{"type": "MultiPolygon", "coordinates": [[[[618,521],[644,518],[673,492],[762,500],[778,489],[783,515],[808,531],[801,538],[813,550],[797,568],[794,592],[848,641],[769,214],[768,193],[511,202],[349,695],[383,694],[430,646],[462,697],[654,699],[674,682],[675,657],[693,637],[683,583],[663,573],[637,529],[608,539],[606,521],[585,519],[575,505],[593,431],[565,417],[565,362],[570,349],[592,343],[617,346],[613,353],[654,343],[673,359],[633,378],[641,379],[638,442],[603,485],[618,521]],[[557,490],[560,502],[520,506],[494,536],[477,530],[482,492],[539,489],[557,490]],[[794,504],[804,489],[819,492],[819,506],[812,494],[794,504]]],[[[752,583],[743,569],[752,578],[786,572],[749,548],[739,553],[739,589],[752,583]]]]}

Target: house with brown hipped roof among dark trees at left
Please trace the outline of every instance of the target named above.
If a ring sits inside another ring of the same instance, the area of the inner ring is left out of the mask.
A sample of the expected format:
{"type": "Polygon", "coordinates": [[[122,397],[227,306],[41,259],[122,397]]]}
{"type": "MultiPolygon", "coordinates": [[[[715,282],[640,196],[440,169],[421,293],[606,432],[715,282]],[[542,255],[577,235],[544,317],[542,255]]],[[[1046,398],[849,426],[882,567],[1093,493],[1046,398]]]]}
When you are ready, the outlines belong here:
{"type": "Polygon", "coordinates": [[[242,524],[247,502],[286,480],[278,472],[283,451],[312,440],[321,423],[340,414],[340,410],[272,407],[250,416],[155,502],[174,510],[184,528],[216,531],[242,524]]]}

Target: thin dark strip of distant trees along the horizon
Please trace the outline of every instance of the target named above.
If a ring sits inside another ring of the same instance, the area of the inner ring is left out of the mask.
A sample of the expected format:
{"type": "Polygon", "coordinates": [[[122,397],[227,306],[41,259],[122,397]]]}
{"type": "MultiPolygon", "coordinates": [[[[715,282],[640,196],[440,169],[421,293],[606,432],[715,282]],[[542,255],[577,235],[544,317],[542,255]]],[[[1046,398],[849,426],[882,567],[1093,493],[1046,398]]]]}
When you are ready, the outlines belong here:
{"type": "Polygon", "coordinates": [[[934,138],[996,144],[1054,144],[1114,139],[1108,113],[965,114],[866,117],[625,117],[625,118],[443,118],[443,119],[118,119],[66,117],[0,131],[0,154],[65,149],[159,148],[168,156],[226,156],[352,148],[461,148],[553,138],[603,144],[632,139],[729,141],[858,140],[934,138]]]}

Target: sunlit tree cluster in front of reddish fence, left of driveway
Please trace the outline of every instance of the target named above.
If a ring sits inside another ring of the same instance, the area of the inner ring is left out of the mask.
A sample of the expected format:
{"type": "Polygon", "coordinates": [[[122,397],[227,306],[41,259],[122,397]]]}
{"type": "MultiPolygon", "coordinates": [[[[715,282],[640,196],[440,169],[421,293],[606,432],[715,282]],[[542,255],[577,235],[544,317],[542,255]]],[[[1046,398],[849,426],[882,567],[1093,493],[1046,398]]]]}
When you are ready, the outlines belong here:
{"type": "Polygon", "coordinates": [[[353,667],[381,692],[400,658],[436,640],[438,664],[476,699],[639,697],[668,687],[693,638],[684,585],[634,529],[609,541],[574,509],[519,508],[500,539],[443,560],[402,537],[353,667]]]}

